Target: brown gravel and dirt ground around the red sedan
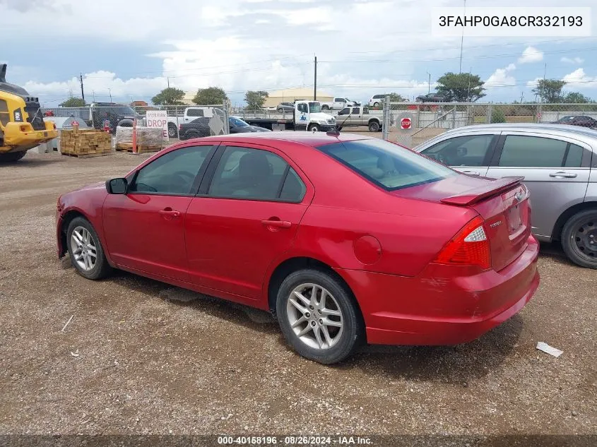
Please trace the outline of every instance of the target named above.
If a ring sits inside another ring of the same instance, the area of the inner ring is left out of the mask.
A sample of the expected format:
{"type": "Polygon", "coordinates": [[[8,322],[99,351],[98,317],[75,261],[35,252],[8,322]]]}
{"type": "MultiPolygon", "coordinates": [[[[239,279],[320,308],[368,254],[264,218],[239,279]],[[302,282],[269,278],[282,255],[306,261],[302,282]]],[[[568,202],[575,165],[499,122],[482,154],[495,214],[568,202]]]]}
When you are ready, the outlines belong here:
{"type": "Polygon", "coordinates": [[[536,297],[479,340],[321,366],[267,314],[126,273],[85,280],[57,260],[59,194],[144,157],[0,167],[0,433],[596,433],[596,271],[548,247],[536,297]]]}

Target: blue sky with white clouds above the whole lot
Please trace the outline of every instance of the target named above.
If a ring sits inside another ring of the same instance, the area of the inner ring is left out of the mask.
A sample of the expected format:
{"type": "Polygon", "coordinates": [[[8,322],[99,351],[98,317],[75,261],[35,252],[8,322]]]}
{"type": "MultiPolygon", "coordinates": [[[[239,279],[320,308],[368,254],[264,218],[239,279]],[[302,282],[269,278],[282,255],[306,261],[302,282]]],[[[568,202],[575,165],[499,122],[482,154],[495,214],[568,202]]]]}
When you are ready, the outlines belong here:
{"type": "MultiPolygon", "coordinates": [[[[466,2],[526,4],[536,1],[466,2]]],[[[247,90],[312,88],[314,56],[317,90],[351,100],[389,92],[412,100],[447,71],[480,76],[479,102],[533,100],[543,76],[597,99],[597,4],[592,37],[465,33],[462,63],[461,37],[432,34],[433,6],[463,0],[0,0],[4,35],[18,40],[5,40],[0,63],[44,107],[80,96],[81,73],[88,102],[150,102],[170,83],[185,92],[217,85],[242,105],[247,90]]]]}

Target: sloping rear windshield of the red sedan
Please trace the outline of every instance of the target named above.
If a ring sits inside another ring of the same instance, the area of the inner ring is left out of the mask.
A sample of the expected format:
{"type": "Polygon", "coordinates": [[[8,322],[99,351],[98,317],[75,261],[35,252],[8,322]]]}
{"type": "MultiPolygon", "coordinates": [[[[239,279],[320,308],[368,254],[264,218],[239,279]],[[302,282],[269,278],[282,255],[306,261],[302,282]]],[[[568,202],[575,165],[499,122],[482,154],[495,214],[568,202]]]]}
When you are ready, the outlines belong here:
{"type": "Polygon", "coordinates": [[[458,175],[449,167],[377,138],[332,143],[317,149],[387,191],[458,175]]]}

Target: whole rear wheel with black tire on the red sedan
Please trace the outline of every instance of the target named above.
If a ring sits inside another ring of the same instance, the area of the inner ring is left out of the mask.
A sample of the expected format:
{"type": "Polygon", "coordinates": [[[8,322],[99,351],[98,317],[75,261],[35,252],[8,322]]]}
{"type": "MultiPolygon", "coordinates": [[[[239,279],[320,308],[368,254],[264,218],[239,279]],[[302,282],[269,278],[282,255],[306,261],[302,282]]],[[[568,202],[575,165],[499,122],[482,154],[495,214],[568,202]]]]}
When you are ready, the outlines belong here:
{"type": "Polygon", "coordinates": [[[342,362],[365,339],[362,316],[350,290],[322,270],[290,273],[278,289],[276,315],[288,344],[314,362],[342,362]],[[326,298],[321,303],[324,291],[326,298]]]}

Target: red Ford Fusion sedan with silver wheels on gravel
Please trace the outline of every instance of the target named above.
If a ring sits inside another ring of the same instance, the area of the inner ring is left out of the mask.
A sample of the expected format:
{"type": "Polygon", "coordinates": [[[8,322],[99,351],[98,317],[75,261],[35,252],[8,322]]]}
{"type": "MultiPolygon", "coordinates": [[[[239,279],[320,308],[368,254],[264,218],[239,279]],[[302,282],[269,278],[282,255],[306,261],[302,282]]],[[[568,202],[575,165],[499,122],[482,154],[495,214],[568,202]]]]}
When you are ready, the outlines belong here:
{"type": "Polygon", "coordinates": [[[57,207],[58,256],[85,278],[119,268],[271,311],[326,364],[363,342],[474,340],[539,284],[521,178],[469,177],[378,138],[184,141],[57,207]]]}

